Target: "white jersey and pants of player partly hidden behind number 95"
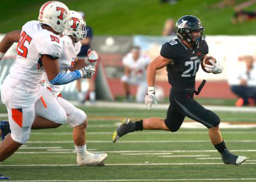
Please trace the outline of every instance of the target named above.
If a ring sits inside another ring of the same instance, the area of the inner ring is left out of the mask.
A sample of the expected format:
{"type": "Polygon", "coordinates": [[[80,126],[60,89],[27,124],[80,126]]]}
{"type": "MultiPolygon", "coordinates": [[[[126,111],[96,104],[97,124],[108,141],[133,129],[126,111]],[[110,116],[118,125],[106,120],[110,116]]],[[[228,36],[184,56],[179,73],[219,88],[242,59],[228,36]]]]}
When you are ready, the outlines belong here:
{"type": "MultiPolygon", "coordinates": [[[[73,65],[73,61],[75,60],[77,54],[80,52],[81,43],[80,42],[72,42],[69,36],[62,36],[61,40],[63,42],[62,54],[59,57],[59,72],[66,73],[70,67],[73,65]]],[[[48,81],[47,75],[44,74],[44,79],[46,81],[46,86],[50,90],[50,93],[56,98],[57,102],[63,107],[67,114],[67,123],[72,125],[73,127],[78,126],[87,119],[86,113],[81,109],[76,108],[72,103],[63,99],[59,96],[60,85],[52,85],[48,81]]],[[[45,115],[48,115],[47,108],[44,108],[42,105],[40,108],[42,112],[45,110],[45,115]]],[[[55,113],[56,110],[52,109],[51,113],[55,113]]],[[[43,113],[41,114],[44,117],[43,113]]]]}

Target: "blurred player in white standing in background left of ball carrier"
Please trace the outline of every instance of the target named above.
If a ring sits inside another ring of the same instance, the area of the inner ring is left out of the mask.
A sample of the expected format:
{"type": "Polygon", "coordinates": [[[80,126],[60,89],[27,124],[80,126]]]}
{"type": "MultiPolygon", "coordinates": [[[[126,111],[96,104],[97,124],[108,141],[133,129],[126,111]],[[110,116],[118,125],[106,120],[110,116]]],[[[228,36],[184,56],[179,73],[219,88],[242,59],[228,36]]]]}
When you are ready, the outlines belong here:
{"type": "Polygon", "coordinates": [[[147,92],[146,67],[150,58],[141,55],[139,47],[133,47],[131,52],[126,54],[122,60],[124,75],[121,77],[126,100],[131,101],[130,85],[138,85],[136,102],[143,102],[147,92]]]}

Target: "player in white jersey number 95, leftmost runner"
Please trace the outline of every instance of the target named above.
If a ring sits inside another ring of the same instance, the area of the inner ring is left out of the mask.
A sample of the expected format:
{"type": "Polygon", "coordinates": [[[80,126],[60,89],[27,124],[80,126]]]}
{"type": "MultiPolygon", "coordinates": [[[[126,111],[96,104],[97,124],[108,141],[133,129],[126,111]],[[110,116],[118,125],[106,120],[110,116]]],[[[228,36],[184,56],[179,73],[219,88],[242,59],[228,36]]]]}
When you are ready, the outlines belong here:
{"type": "Polygon", "coordinates": [[[63,3],[47,2],[40,8],[38,21],[27,22],[21,33],[11,32],[0,42],[2,59],[10,48],[11,41],[17,41],[16,36],[12,35],[20,35],[16,60],[1,89],[1,100],[7,107],[12,132],[0,145],[0,162],[28,141],[34,119],[47,121],[46,125],[53,122],[62,124],[67,120],[65,110],[39,84],[44,71],[51,84],[66,84],[92,75],[84,68],[70,73],[59,73],[58,58],[62,53],[63,42],[58,34],[65,29],[69,14],[68,7],[63,3]],[[42,95],[47,97],[47,101],[42,95]],[[54,116],[42,118],[40,111],[36,110],[38,105],[58,107],[58,112],[54,116]],[[38,115],[37,118],[35,115],[38,115]]]}

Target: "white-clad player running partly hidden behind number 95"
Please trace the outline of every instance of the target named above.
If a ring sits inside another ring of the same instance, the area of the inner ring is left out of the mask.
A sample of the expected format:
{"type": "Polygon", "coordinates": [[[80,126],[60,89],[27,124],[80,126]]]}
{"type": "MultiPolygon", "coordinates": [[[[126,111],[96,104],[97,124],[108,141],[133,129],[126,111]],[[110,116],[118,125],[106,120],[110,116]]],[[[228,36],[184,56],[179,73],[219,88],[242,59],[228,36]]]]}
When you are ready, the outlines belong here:
{"type": "MultiPolygon", "coordinates": [[[[83,21],[82,16],[76,11],[70,11],[70,19],[67,21],[67,28],[62,36],[63,50],[62,55],[59,57],[59,72],[66,73],[67,70],[79,70],[84,66],[91,64],[98,60],[96,51],[88,50],[88,57],[85,59],[78,59],[76,56],[80,52],[80,40],[86,38],[86,22],[83,21]]],[[[94,69],[94,67],[88,69],[94,69]]],[[[64,108],[67,114],[67,123],[74,127],[73,139],[75,150],[77,152],[77,164],[84,166],[90,164],[101,163],[107,157],[106,153],[90,153],[86,147],[86,127],[87,115],[79,108],[76,108],[72,103],[63,99],[59,93],[60,85],[52,85],[44,74],[47,88],[52,95],[56,98],[61,107],[64,108]]],[[[49,110],[44,106],[40,106],[45,115],[49,112],[56,112],[56,110],[49,110]]],[[[41,115],[42,116],[42,115],[41,115]]],[[[42,116],[46,118],[46,116],[42,116]]]]}

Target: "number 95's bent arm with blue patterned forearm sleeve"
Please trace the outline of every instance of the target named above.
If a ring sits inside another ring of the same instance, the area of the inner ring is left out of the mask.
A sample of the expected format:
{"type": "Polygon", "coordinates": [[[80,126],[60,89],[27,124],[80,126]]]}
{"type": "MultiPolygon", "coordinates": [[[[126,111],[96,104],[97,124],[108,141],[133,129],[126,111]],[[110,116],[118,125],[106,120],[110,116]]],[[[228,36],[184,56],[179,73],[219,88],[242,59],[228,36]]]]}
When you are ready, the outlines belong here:
{"type": "Polygon", "coordinates": [[[50,55],[42,55],[42,65],[44,65],[48,80],[52,85],[63,85],[80,78],[91,78],[95,73],[95,70],[84,68],[70,73],[59,73],[58,59],[50,55]]]}

